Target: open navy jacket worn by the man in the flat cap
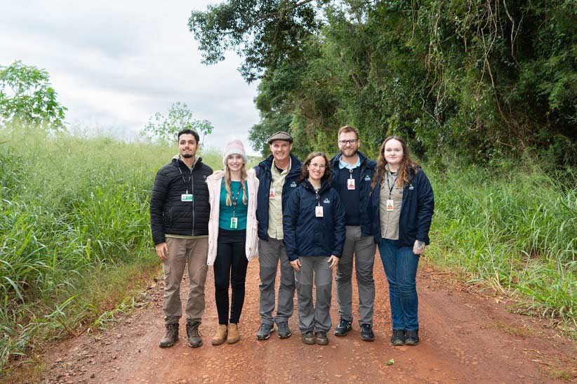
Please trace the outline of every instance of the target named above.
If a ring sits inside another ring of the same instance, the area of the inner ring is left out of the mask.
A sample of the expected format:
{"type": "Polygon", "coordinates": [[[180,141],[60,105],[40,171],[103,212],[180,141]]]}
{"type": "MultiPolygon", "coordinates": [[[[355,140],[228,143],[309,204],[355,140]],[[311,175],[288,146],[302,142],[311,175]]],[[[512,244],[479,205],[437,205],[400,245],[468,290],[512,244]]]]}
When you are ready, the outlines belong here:
{"type": "MultiPolygon", "coordinates": [[[[256,177],[258,178],[258,193],[256,194],[256,220],[258,221],[258,238],[268,241],[268,192],[272,182],[272,154],[267,159],[260,161],[255,167],[256,177]]],[[[293,154],[291,154],[291,169],[284,179],[282,186],[282,211],[286,207],[286,201],[293,190],[296,190],[298,179],[300,178],[300,166],[302,163],[293,154]]],[[[284,229],[283,229],[284,232],[284,229]]]]}

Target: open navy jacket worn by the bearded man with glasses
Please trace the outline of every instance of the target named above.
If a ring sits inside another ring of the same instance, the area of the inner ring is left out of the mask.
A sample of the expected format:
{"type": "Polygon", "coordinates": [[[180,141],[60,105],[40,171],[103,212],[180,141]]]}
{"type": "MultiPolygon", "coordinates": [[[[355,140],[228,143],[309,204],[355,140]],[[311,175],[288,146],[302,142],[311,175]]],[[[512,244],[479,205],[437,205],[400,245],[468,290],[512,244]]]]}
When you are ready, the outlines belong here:
{"type": "MultiPolygon", "coordinates": [[[[374,160],[369,159],[366,157],[362,152],[357,152],[359,154],[359,159],[361,161],[360,168],[360,180],[355,181],[355,185],[359,185],[359,194],[360,194],[360,213],[361,216],[359,218],[360,225],[361,225],[361,235],[362,236],[371,236],[373,234],[373,209],[371,207],[371,181],[373,180],[373,176],[375,174],[375,169],[377,167],[377,162],[374,160]]],[[[340,169],[338,168],[338,158],[340,156],[336,155],[331,159],[331,184],[335,187],[335,184],[338,180],[338,175],[340,172],[349,172],[347,168],[340,169]]]]}

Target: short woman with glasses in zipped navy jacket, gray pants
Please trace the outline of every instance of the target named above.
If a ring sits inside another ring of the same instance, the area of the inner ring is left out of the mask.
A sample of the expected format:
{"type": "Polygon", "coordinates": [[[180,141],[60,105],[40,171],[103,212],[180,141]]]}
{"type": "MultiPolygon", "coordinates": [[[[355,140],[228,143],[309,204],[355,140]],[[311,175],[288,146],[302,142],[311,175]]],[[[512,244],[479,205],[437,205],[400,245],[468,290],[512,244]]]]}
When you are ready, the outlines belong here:
{"type": "Polygon", "coordinates": [[[300,175],[301,183],[283,212],[284,247],[295,270],[298,328],[303,343],[326,345],[326,333],[333,325],[333,270],[345,244],[345,208],[327,181],[330,170],[326,154],[309,154],[300,175]],[[313,282],[317,288],[314,307],[313,282]]]}

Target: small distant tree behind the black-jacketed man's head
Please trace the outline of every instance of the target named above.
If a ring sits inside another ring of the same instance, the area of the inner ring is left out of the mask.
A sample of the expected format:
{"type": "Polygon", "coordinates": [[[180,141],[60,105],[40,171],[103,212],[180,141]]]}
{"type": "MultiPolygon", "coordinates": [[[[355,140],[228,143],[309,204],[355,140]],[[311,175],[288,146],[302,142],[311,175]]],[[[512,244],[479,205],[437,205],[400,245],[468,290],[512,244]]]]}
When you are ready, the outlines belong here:
{"type": "Polygon", "coordinates": [[[157,112],[153,117],[150,117],[148,124],[142,129],[142,133],[150,140],[173,143],[178,131],[187,128],[202,133],[202,143],[204,136],[210,135],[214,127],[208,120],[194,119],[194,114],[185,102],[174,102],[168,108],[168,116],[165,117],[157,112]]]}

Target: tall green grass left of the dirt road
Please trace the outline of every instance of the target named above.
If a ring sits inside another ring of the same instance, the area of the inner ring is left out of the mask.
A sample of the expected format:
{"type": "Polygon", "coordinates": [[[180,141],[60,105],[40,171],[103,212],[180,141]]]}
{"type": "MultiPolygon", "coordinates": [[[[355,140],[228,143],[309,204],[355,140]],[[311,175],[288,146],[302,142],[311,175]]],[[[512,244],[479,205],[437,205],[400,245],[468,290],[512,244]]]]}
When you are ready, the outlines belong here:
{"type": "MultiPolygon", "coordinates": [[[[148,201],[178,150],[29,127],[0,143],[1,375],[33,344],[98,326],[126,306],[114,296],[126,279],[157,270],[148,201]]],[[[222,168],[220,154],[201,155],[222,168]]]]}

